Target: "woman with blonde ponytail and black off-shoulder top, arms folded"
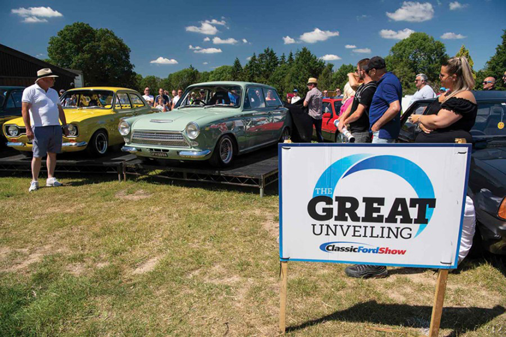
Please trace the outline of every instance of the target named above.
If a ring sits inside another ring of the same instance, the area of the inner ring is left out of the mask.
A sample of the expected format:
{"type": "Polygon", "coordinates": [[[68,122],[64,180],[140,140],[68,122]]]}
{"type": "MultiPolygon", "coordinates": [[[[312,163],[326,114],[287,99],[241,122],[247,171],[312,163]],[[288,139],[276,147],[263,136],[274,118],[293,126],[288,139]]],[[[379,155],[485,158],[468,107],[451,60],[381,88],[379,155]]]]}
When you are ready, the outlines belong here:
{"type": "Polygon", "coordinates": [[[409,116],[423,131],[416,142],[454,143],[455,138],[464,138],[472,143],[469,132],[476,120],[478,105],[471,92],[474,79],[467,59],[452,58],[443,63],[439,79],[441,86],[449,90],[427,107],[426,115],[409,116]]]}

